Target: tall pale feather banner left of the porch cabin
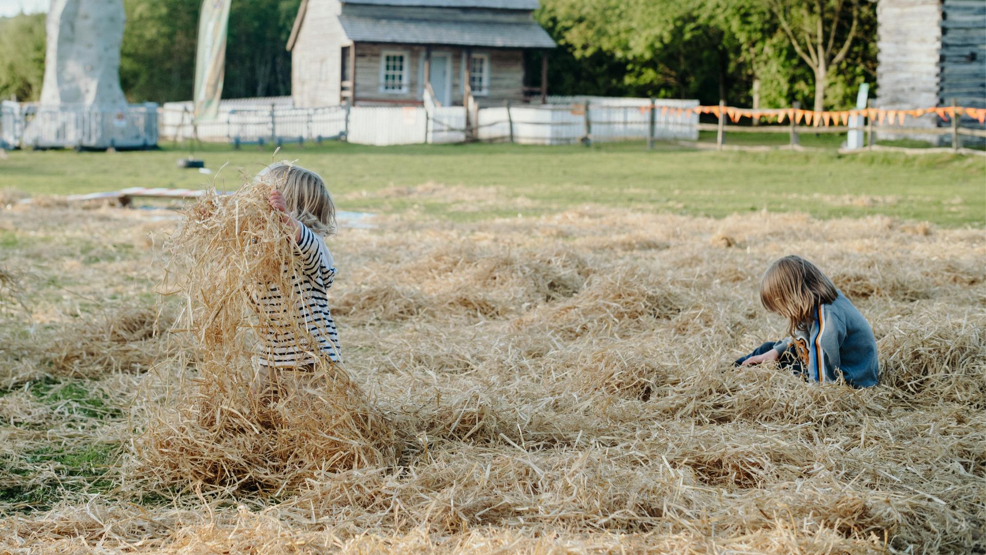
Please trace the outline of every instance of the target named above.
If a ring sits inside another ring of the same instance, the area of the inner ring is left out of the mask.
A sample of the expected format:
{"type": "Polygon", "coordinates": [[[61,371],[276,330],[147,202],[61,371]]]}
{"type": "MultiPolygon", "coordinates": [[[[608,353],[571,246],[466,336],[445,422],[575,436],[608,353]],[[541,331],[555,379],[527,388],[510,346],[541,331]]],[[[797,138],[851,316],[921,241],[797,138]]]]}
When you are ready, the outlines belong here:
{"type": "Polygon", "coordinates": [[[226,74],[226,31],[232,0],[202,0],[198,17],[198,44],[195,49],[195,90],[193,121],[209,121],[219,114],[226,74]]]}

